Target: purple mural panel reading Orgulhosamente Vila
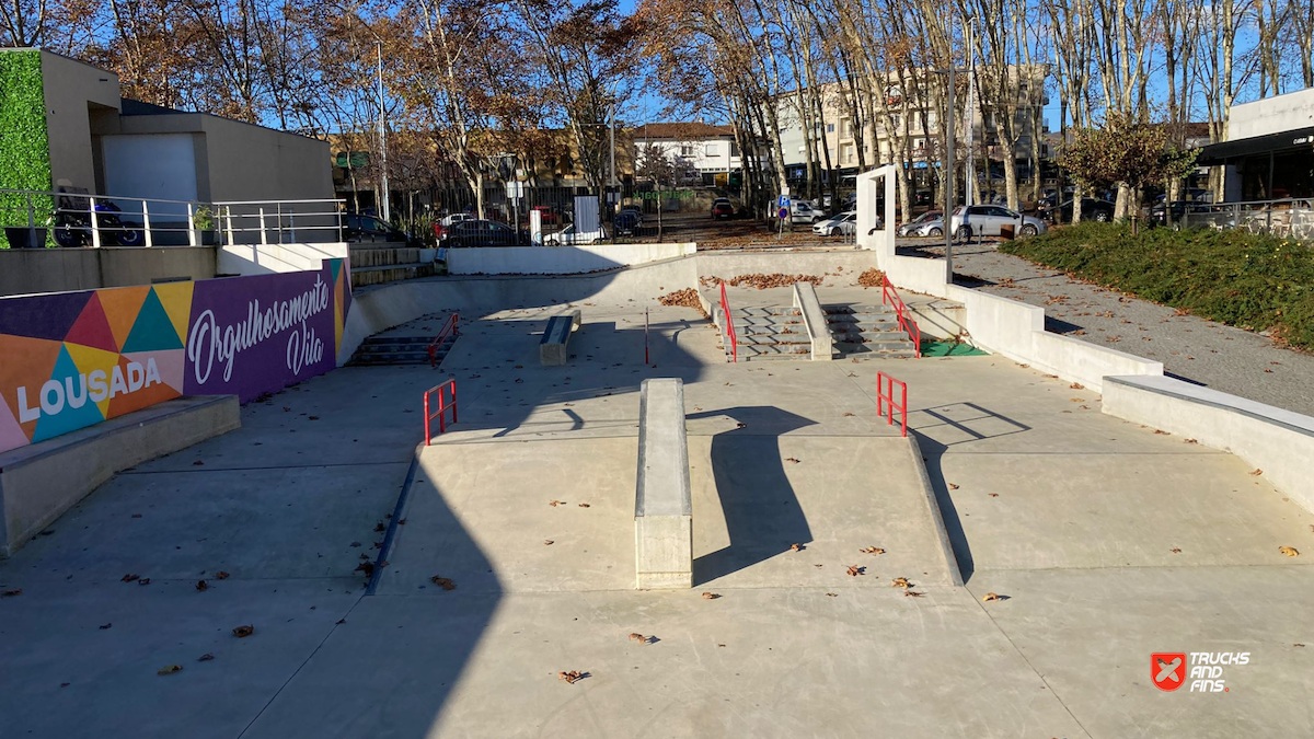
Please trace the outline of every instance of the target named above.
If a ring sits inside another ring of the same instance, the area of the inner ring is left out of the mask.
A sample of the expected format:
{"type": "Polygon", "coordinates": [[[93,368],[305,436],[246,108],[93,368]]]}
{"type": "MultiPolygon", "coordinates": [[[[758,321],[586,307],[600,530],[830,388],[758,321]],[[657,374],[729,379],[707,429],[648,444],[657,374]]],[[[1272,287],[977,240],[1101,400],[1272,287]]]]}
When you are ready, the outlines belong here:
{"type": "Polygon", "coordinates": [[[335,281],[326,263],[313,272],[196,283],[185,394],[233,393],[247,402],[332,370],[335,281]]]}

